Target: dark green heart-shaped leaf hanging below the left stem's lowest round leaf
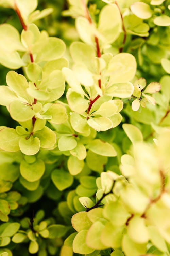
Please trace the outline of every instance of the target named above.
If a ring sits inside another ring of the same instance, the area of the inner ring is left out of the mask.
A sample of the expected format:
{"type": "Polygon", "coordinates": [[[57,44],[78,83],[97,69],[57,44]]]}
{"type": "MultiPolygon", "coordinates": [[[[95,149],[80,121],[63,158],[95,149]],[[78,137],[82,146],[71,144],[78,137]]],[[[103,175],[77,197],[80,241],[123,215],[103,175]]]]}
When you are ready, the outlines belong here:
{"type": "Polygon", "coordinates": [[[25,160],[21,161],[20,172],[24,179],[30,182],[38,181],[44,174],[45,164],[43,160],[37,159],[34,163],[27,163],[25,160]]]}

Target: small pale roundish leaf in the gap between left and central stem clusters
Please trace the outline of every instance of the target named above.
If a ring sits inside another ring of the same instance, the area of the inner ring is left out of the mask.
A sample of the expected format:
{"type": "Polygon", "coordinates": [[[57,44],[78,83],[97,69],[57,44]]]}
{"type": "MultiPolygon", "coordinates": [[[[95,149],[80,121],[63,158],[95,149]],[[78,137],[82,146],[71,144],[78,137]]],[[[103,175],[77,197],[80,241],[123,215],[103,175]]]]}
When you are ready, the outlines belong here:
{"type": "Polygon", "coordinates": [[[58,140],[58,148],[60,151],[72,150],[77,146],[77,141],[73,136],[66,137],[62,136],[58,140]]]}

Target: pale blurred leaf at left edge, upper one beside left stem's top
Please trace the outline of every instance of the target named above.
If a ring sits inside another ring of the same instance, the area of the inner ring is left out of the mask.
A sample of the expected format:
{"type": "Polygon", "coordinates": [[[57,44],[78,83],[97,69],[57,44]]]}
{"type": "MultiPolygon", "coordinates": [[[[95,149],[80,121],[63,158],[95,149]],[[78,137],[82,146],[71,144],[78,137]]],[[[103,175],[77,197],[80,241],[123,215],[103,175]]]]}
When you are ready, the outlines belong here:
{"type": "Polygon", "coordinates": [[[14,52],[16,50],[25,51],[20,42],[20,34],[16,28],[10,24],[1,24],[0,26],[0,48],[6,52],[14,52]],[[11,43],[12,42],[12,43],[11,43]]]}

